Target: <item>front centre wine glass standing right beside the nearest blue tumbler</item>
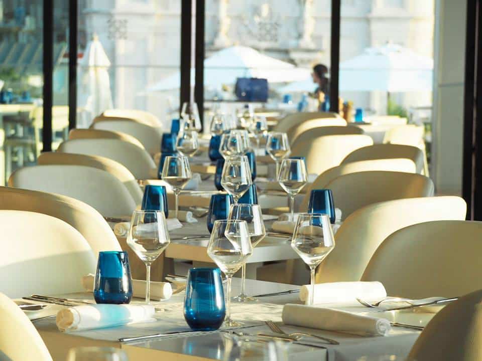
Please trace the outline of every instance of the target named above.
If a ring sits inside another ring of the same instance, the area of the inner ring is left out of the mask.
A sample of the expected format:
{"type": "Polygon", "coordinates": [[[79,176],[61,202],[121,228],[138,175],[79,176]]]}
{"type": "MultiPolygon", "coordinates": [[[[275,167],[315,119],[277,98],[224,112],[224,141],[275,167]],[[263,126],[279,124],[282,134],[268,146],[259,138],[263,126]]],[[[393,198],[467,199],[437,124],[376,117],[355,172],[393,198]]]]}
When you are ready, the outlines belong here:
{"type": "Polygon", "coordinates": [[[242,325],[231,319],[231,279],[252,253],[253,247],[246,221],[218,220],[214,222],[207,254],[227,277],[224,326],[242,325]]]}

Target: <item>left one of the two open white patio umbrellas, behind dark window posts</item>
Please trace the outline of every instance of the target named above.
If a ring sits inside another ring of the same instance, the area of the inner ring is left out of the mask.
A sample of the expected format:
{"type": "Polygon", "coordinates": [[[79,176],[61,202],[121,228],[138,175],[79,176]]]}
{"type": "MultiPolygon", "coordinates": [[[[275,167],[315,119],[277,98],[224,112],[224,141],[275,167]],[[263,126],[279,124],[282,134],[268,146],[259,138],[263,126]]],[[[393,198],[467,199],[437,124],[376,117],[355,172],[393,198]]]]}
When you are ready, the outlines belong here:
{"type": "MultiPolygon", "coordinates": [[[[194,84],[194,69],[191,69],[191,84],[194,84]]],[[[204,84],[219,88],[224,84],[234,84],[236,78],[265,78],[270,83],[284,83],[306,78],[308,69],[261,54],[243,46],[233,46],[220,50],[204,60],[204,84]]],[[[158,92],[180,87],[180,74],[176,72],[159,83],[150,86],[147,92],[158,92]]]]}

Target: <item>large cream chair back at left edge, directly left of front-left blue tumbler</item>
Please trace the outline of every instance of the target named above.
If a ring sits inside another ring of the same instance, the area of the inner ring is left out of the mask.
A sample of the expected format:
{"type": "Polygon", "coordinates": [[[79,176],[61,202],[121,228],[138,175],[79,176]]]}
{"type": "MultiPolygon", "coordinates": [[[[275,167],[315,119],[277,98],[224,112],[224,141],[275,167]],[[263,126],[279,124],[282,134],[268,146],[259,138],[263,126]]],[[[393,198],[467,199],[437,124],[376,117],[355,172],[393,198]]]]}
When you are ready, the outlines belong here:
{"type": "Polygon", "coordinates": [[[0,289],[12,298],[81,292],[95,271],[87,241],[72,226],[41,213],[0,211],[0,289]]]}

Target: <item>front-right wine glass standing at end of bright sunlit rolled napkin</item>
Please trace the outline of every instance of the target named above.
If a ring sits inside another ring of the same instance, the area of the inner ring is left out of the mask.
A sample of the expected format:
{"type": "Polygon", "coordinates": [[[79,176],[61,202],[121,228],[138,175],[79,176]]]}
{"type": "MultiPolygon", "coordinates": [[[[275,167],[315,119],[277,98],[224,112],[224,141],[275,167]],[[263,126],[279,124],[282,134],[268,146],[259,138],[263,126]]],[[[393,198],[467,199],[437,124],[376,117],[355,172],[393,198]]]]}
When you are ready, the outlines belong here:
{"type": "Polygon", "coordinates": [[[310,267],[311,294],[308,304],[313,304],[315,269],[335,247],[330,218],[321,213],[301,213],[298,216],[291,247],[310,267]]]}

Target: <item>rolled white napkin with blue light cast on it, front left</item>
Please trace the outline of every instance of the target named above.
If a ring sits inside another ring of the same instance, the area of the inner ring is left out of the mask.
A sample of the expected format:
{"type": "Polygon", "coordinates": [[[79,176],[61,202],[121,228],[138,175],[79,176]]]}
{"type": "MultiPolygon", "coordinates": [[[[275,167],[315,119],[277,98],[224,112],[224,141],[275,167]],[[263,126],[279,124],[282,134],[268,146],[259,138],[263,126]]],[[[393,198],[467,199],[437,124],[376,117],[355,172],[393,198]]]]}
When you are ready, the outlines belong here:
{"type": "Polygon", "coordinates": [[[61,309],[57,327],[62,332],[81,331],[154,320],[153,305],[92,304],[61,309]]]}

